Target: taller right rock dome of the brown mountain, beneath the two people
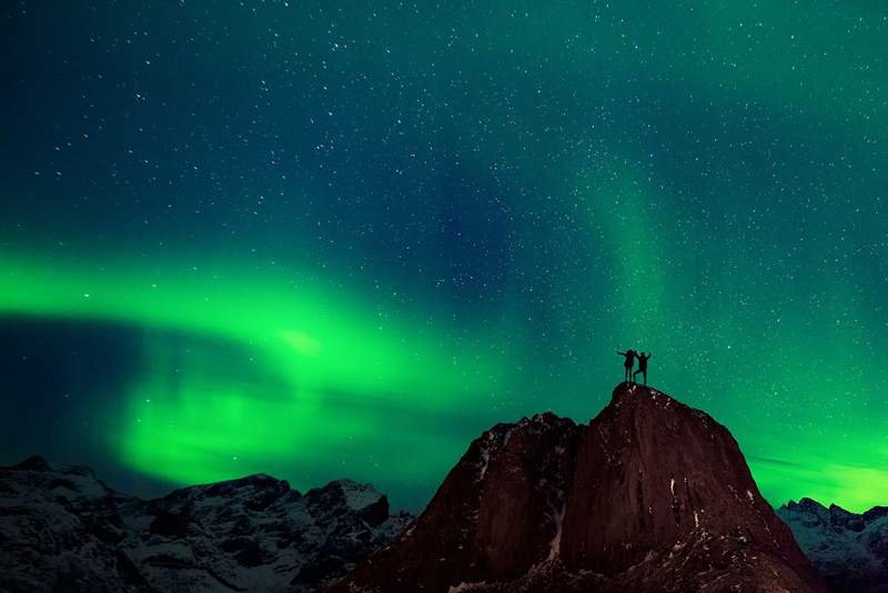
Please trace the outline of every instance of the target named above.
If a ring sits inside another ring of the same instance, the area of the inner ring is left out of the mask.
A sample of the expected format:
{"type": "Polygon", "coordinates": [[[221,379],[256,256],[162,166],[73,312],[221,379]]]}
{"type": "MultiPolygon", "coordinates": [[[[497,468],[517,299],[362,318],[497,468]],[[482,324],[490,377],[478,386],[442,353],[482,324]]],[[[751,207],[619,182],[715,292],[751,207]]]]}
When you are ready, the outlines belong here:
{"type": "Polygon", "coordinates": [[[731,534],[740,525],[748,540],[804,565],[737,442],[705,412],[653,388],[620,383],[589,429],[565,514],[568,566],[615,574],[650,550],[704,533],[731,534]]]}

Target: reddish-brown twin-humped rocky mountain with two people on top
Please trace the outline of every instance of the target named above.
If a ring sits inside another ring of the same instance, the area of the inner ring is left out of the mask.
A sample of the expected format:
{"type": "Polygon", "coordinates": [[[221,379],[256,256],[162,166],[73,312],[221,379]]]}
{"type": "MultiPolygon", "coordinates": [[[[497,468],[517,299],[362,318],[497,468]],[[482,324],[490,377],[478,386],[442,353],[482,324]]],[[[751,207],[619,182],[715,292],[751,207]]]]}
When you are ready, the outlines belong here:
{"type": "Polygon", "coordinates": [[[728,431],[623,383],[468,448],[401,539],[331,591],[825,591],[728,431]]]}

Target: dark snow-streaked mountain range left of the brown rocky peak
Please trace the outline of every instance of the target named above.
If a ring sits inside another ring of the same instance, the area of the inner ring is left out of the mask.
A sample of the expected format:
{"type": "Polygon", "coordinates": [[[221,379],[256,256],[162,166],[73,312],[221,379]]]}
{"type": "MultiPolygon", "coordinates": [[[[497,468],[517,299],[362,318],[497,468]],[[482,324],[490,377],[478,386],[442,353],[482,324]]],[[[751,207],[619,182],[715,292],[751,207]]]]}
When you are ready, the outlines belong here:
{"type": "Polygon", "coordinates": [[[314,591],[396,537],[370,484],[258,474],[144,501],[89,468],[0,468],[0,591],[314,591]]]}

